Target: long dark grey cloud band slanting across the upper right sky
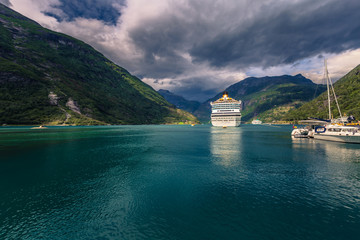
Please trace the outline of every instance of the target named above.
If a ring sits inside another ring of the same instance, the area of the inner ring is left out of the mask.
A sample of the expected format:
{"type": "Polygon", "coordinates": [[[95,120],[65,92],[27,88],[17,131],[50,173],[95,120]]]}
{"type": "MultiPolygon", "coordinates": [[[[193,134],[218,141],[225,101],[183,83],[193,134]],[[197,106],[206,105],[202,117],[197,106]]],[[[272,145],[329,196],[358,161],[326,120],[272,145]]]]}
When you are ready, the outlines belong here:
{"type": "Polygon", "coordinates": [[[272,9],[270,16],[197,44],[190,53],[214,66],[269,67],[360,47],[360,1],[328,1],[309,9],[312,2],[272,9]]]}

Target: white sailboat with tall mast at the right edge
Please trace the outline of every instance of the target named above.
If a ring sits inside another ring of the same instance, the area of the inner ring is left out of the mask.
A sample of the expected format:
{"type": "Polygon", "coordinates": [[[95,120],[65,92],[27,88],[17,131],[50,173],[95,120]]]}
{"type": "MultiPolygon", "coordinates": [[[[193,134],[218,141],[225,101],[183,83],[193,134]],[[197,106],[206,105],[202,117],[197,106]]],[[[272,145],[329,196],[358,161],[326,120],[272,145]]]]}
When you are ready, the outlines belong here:
{"type": "Polygon", "coordinates": [[[332,81],[329,77],[329,72],[327,70],[327,62],[324,60],[324,69],[325,69],[325,78],[327,86],[327,95],[328,95],[328,108],[329,108],[329,120],[323,122],[324,124],[319,124],[312,129],[311,136],[314,139],[334,141],[334,142],[344,142],[344,143],[360,143],[360,129],[357,126],[346,126],[345,121],[346,117],[343,117],[339,107],[339,103],[336,98],[335,90],[332,84],[332,81]],[[330,101],[330,88],[334,95],[336,106],[338,108],[340,118],[333,119],[331,115],[331,101],[330,101]]]}

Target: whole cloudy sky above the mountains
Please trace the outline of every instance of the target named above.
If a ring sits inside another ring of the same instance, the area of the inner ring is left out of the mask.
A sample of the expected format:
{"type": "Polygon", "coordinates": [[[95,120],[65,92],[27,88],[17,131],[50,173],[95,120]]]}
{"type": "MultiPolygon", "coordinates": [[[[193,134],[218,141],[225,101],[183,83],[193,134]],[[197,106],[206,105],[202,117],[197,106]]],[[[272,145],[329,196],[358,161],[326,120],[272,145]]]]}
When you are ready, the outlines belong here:
{"type": "Polygon", "coordinates": [[[247,77],[360,64],[359,0],[0,0],[151,85],[205,101],[247,77]]]}

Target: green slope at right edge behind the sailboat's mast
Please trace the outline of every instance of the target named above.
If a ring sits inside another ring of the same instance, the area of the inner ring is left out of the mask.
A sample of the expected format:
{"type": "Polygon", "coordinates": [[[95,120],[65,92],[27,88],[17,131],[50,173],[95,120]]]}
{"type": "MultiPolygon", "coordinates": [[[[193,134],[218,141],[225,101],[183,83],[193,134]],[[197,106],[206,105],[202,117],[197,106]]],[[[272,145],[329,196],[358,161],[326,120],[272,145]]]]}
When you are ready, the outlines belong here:
{"type": "MultiPolygon", "coordinates": [[[[355,67],[334,84],[337,100],[342,114],[353,115],[360,119],[360,65],[355,67]]],[[[331,111],[334,117],[339,116],[334,98],[332,97],[331,111]]],[[[316,99],[290,111],[285,118],[288,120],[307,119],[308,117],[329,118],[327,92],[316,99]]]]}

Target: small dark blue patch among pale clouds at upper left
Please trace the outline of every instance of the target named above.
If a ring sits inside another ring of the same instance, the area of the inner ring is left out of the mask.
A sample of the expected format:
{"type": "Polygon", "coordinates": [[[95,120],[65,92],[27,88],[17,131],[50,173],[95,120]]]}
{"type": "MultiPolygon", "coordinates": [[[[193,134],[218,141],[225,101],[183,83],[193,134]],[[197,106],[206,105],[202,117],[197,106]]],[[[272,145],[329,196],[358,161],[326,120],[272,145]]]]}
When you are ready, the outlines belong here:
{"type": "Polygon", "coordinates": [[[115,25],[120,17],[119,10],[113,4],[124,5],[125,0],[59,0],[60,5],[56,6],[62,10],[64,15],[60,16],[55,12],[46,12],[59,21],[72,21],[77,17],[102,20],[108,24],[115,25]]]}

